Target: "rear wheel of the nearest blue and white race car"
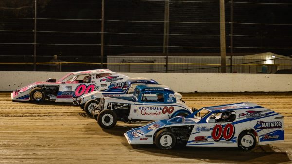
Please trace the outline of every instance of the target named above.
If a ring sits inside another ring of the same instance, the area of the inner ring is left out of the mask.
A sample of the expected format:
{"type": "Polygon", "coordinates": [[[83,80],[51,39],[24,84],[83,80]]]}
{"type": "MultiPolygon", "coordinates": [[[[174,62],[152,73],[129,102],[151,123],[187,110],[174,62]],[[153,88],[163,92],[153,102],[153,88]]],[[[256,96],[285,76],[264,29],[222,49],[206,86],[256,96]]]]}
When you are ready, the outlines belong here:
{"type": "Polygon", "coordinates": [[[256,136],[251,131],[243,131],[238,136],[238,148],[251,150],[256,146],[256,136]]]}

